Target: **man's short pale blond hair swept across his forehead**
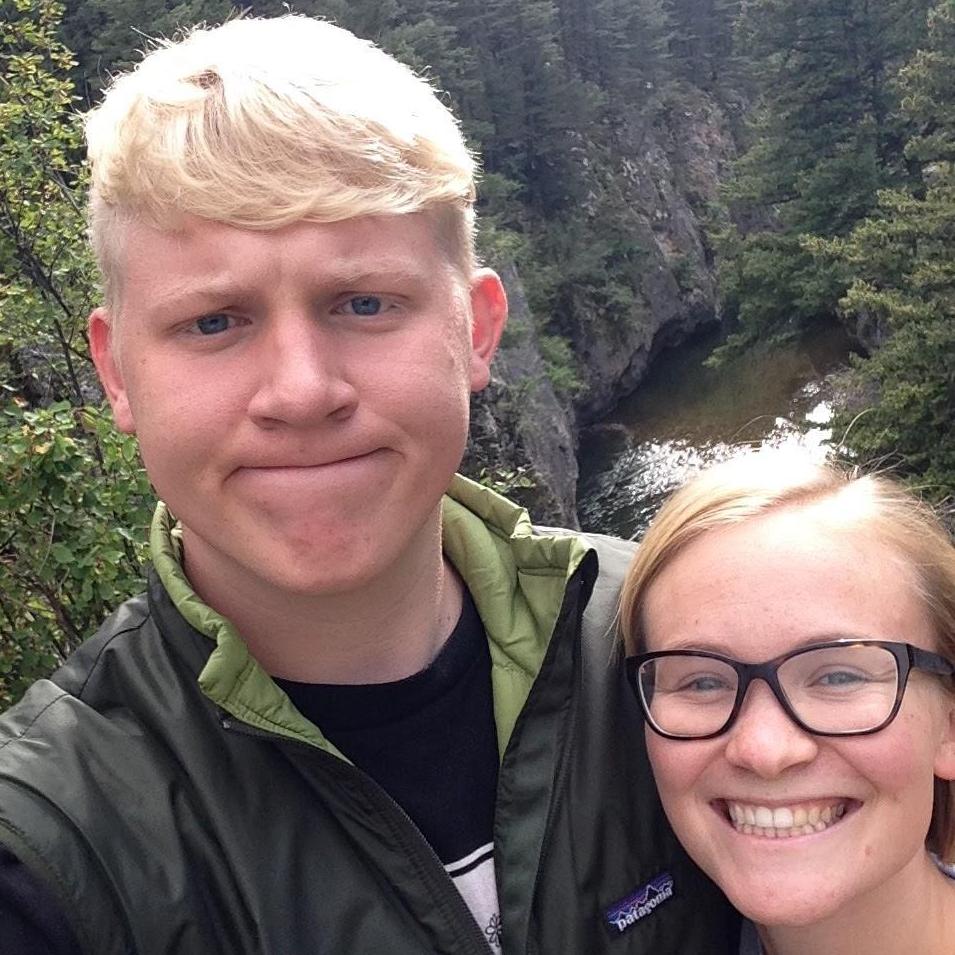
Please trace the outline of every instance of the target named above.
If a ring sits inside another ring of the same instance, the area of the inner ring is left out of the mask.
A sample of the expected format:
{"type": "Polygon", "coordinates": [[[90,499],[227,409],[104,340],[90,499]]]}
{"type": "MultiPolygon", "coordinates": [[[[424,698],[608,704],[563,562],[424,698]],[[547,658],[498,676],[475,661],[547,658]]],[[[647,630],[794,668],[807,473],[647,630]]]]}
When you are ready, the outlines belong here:
{"type": "Polygon", "coordinates": [[[124,222],[182,215],[244,229],[429,211],[474,267],[474,158],[423,78],[304,16],[238,19],[163,41],[86,123],[90,238],[107,301],[124,222]]]}

